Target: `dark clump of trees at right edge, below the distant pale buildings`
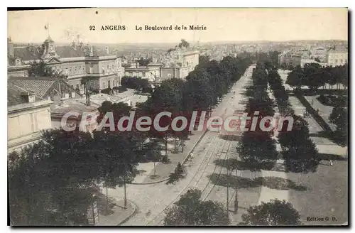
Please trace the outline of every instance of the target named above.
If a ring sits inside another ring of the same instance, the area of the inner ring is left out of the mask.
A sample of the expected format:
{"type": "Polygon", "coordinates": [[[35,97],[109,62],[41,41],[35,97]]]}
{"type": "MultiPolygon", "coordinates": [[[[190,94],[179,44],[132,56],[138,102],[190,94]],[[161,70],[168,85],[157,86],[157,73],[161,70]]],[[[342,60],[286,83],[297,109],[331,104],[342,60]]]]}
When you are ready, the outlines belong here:
{"type": "Polygon", "coordinates": [[[322,67],[318,63],[308,63],[305,67],[297,66],[289,74],[286,84],[291,87],[300,88],[308,86],[310,90],[317,90],[326,84],[329,88],[333,85],[342,84],[348,86],[348,65],[340,65],[336,67],[322,67]]]}

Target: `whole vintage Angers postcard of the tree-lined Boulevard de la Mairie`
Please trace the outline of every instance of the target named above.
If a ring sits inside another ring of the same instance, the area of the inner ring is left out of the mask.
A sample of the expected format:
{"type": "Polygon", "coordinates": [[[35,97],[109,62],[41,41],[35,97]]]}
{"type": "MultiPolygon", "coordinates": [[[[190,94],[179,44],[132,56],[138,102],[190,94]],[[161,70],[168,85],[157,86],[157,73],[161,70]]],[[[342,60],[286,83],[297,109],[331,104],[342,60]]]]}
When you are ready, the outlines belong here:
{"type": "Polygon", "coordinates": [[[8,11],[11,226],[346,225],[348,9],[8,11]]]}

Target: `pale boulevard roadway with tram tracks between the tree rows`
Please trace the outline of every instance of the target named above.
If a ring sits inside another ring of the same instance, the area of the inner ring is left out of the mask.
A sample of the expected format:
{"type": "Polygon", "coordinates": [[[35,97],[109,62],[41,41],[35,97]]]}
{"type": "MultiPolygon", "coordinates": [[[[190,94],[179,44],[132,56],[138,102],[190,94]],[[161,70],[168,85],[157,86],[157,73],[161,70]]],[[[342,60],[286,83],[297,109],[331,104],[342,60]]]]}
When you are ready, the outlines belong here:
{"type": "MultiPolygon", "coordinates": [[[[243,109],[244,104],[241,92],[244,91],[244,85],[250,80],[251,70],[236,82],[229,94],[226,94],[212,116],[231,116],[235,109],[243,109]],[[235,94],[234,94],[235,92],[235,94]]],[[[180,180],[175,185],[166,185],[157,183],[152,185],[127,185],[129,200],[138,206],[138,212],[124,225],[159,225],[163,224],[165,217],[164,210],[171,207],[173,202],[180,198],[190,188],[199,188],[203,190],[202,197],[207,198],[212,195],[216,198],[214,190],[216,185],[209,182],[209,176],[212,173],[222,173],[222,167],[215,166],[214,160],[225,158],[229,148],[235,150],[236,141],[226,141],[218,133],[207,132],[194,151],[194,159],[187,164],[187,177],[180,180]]],[[[109,195],[122,198],[123,188],[109,190],[109,195]]],[[[217,197],[217,199],[221,199],[217,197]]],[[[225,199],[225,198],[224,198],[225,199]]],[[[257,202],[257,200],[256,200],[257,202]]]]}

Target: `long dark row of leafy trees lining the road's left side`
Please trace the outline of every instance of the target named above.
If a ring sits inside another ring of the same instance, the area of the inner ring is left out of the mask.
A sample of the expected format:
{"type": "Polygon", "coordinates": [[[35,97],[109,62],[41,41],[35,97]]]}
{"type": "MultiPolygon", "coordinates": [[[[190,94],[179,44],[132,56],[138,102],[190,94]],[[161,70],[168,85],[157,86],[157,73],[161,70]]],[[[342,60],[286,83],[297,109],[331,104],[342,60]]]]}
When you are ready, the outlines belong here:
{"type": "MultiPolygon", "coordinates": [[[[136,116],[151,116],[163,111],[172,112],[173,116],[182,112],[191,115],[194,110],[209,110],[228,92],[233,82],[239,80],[250,63],[246,58],[227,57],[221,63],[207,59],[190,73],[187,81],[165,80],[147,102],[138,104],[136,116]],[[207,96],[202,87],[211,96],[207,96]]],[[[89,82],[83,80],[82,84],[89,92],[89,82]]],[[[119,119],[129,116],[131,110],[124,103],[104,102],[97,121],[101,123],[107,112],[113,112],[116,127],[119,119]]],[[[161,121],[170,123],[171,119],[161,121]]],[[[160,126],[163,126],[161,122],[160,126]]],[[[168,137],[183,140],[188,133],[187,130],[162,133],[151,129],[142,132],[133,128],[122,132],[119,129],[111,131],[105,126],[93,134],[56,129],[45,131],[38,143],[11,153],[12,222],[17,225],[87,224],[87,209],[94,195],[100,193],[99,186],[114,188],[130,183],[136,175],[138,162],[167,161],[168,137]],[[157,138],[165,139],[164,157],[157,138]]]]}

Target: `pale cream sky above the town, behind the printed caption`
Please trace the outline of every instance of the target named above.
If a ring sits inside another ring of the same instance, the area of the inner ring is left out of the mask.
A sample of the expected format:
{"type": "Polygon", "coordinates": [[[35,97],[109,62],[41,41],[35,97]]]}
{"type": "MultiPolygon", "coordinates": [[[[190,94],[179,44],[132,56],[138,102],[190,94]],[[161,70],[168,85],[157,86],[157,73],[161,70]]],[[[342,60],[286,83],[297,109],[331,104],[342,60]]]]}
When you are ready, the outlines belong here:
{"type": "Polygon", "coordinates": [[[190,43],[255,40],[347,40],[346,8],[295,9],[58,9],[9,11],[8,37],[14,42],[190,43]],[[97,13],[96,13],[97,11],[97,13]],[[49,23],[49,30],[45,25],[49,23]],[[101,31],[102,26],[126,26],[101,31]],[[136,26],[206,26],[204,31],[137,31],[136,26]],[[95,26],[95,31],[90,31],[95,26]]]}

